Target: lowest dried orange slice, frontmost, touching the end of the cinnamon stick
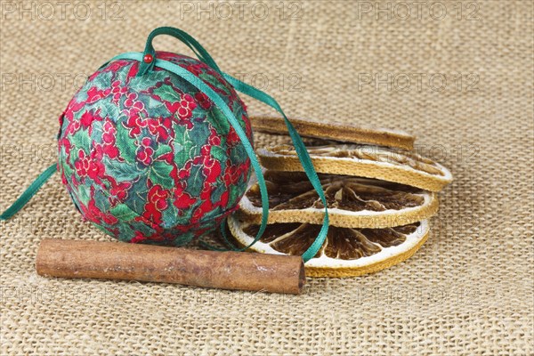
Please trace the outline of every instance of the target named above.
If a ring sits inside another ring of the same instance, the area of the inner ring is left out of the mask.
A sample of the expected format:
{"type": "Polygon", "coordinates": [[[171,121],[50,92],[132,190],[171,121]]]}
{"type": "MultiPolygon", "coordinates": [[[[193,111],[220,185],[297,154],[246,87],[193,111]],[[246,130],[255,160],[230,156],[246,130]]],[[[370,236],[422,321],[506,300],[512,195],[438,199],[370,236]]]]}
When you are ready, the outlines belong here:
{"type": "MultiPolygon", "coordinates": [[[[231,235],[248,246],[259,225],[228,219],[231,235]]],[[[272,223],[251,250],[264,254],[302,255],[314,241],[321,225],[272,223]]],[[[427,220],[385,229],[350,229],[330,226],[325,243],[304,266],[310,277],[352,277],[372,273],[401,263],[415,254],[428,238],[427,220]]]]}

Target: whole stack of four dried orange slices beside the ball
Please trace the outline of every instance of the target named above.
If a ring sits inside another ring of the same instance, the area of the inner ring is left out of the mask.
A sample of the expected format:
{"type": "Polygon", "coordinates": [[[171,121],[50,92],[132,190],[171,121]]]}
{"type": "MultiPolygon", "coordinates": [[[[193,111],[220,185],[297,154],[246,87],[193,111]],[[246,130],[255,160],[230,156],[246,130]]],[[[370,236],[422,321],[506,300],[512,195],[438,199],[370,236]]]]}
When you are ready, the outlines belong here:
{"type": "MultiPolygon", "coordinates": [[[[413,151],[402,132],[292,119],[303,137],[328,202],[330,227],[320,251],[305,264],[312,277],[379,271],[413,255],[428,237],[437,191],[452,181],[440,164],[413,151]]],[[[253,117],[256,131],[287,134],[282,119],[253,117]]],[[[292,146],[257,150],[266,168],[269,224],[251,247],[268,254],[302,255],[320,231],[324,206],[292,146]]],[[[262,202],[253,181],[229,230],[241,246],[260,228],[262,202]]]]}

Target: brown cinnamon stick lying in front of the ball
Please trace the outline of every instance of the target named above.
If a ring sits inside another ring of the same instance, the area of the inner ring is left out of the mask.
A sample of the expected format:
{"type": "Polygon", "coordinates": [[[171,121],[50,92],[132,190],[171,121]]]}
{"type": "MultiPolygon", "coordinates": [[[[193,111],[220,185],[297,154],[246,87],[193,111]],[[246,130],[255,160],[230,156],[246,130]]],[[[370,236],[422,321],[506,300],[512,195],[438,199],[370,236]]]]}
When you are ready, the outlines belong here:
{"type": "Polygon", "coordinates": [[[45,277],[127,279],[197,287],[300,294],[300,256],[214,252],[120,242],[44,239],[37,274],[45,277]]]}

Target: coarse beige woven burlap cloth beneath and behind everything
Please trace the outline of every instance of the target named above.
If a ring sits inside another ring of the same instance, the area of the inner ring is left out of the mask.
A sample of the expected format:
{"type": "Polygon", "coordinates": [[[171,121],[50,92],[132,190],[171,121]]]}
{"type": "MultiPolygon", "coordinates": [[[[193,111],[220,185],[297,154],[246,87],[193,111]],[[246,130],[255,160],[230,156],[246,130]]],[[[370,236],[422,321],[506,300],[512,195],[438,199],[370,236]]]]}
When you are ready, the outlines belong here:
{"type": "MultiPolygon", "coordinates": [[[[83,78],[142,51],[162,25],[189,31],[291,116],[417,134],[456,180],[408,262],[308,279],[288,296],[37,277],[41,239],[109,239],[81,222],[54,176],[0,224],[1,352],[533,354],[532,23],[532,2],[510,0],[3,1],[0,210],[53,162],[57,117],[83,78]]],[[[170,37],[155,43],[189,53],[170,37]]]]}

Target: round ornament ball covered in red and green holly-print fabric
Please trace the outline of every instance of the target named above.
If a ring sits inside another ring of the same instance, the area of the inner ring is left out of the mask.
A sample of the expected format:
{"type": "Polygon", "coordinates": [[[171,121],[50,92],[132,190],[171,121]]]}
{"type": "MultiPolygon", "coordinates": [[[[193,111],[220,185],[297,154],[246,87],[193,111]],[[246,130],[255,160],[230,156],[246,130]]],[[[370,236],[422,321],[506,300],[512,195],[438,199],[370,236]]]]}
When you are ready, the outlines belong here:
{"type": "MultiPolygon", "coordinates": [[[[245,104],[205,63],[157,53],[218,93],[252,142],[245,104]]],[[[86,220],[117,239],[183,245],[234,211],[250,175],[235,130],[205,93],[138,61],[111,61],[60,117],[62,182],[86,220]]]]}

